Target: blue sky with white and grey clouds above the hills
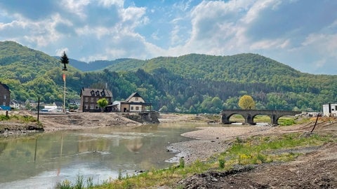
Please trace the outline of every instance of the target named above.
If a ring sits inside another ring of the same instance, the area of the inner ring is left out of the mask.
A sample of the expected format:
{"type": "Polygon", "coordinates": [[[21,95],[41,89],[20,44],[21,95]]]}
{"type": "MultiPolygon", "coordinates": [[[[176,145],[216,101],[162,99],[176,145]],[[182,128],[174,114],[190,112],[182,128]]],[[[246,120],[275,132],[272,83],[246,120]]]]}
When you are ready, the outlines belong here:
{"type": "Polygon", "coordinates": [[[84,62],[253,52],[336,75],[337,1],[1,0],[0,41],[84,62]]]}

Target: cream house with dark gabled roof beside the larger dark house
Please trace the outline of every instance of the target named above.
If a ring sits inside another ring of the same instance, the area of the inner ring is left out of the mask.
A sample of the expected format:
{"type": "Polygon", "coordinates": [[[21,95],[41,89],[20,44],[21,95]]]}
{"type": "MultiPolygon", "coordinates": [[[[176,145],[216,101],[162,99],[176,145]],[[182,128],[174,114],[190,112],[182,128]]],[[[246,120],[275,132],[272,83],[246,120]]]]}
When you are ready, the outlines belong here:
{"type": "Polygon", "coordinates": [[[144,112],[147,110],[151,111],[151,105],[151,103],[145,102],[143,97],[140,97],[140,94],[138,94],[138,92],[133,92],[133,94],[131,94],[124,101],[115,101],[110,107],[112,111],[144,112]]]}

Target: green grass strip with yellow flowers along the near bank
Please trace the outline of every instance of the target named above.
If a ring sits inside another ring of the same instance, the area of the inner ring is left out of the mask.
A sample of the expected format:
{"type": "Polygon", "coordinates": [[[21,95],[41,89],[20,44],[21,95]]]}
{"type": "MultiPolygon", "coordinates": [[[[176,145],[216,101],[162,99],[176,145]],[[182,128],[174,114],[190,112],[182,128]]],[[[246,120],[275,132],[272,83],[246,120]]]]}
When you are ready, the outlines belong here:
{"type": "MultiPolygon", "coordinates": [[[[235,165],[258,165],[267,162],[286,162],[294,160],[300,153],[293,153],[291,149],[319,146],[326,142],[336,142],[332,135],[312,134],[284,134],[282,136],[250,137],[241,139],[237,137],[227,151],[214,155],[206,162],[196,161],[192,165],[185,165],[180,160],[179,165],[168,169],[151,170],[136,176],[119,177],[116,180],[105,182],[93,188],[153,188],[157,186],[169,186],[178,188],[176,183],[209,170],[230,170],[235,165]],[[282,153],[278,153],[282,150],[282,153]]],[[[66,183],[69,186],[68,183],[66,183]]],[[[71,184],[70,184],[71,186],[71,184]]]]}

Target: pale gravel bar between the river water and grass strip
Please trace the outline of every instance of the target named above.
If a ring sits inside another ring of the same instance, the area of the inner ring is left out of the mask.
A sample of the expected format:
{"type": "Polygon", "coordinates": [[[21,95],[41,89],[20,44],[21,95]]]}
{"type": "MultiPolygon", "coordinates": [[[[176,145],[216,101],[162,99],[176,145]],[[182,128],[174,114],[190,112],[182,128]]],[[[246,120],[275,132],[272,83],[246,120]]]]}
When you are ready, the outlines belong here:
{"type": "MultiPolygon", "coordinates": [[[[195,160],[206,160],[216,153],[224,152],[231,142],[239,138],[246,138],[257,135],[284,134],[289,132],[310,132],[314,123],[304,125],[293,125],[287,127],[269,126],[231,126],[231,127],[198,127],[199,130],[186,132],[184,137],[193,140],[171,144],[169,151],[176,152],[175,158],[171,162],[178,162],[179,158],[184,158],[185,163],[190,164],[195,160]]],[[[336,132],[335,123],[319,123],[316,131],[336,132]]]]}

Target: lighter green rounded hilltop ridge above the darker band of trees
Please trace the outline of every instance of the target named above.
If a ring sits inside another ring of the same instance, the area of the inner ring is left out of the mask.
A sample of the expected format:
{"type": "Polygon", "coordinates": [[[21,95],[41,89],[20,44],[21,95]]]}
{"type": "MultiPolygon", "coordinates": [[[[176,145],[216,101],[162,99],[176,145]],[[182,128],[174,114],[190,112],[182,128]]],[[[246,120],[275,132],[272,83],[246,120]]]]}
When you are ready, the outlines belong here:
{"type": "Polygon", "coordinates": [[[300,77],[304,73],[273,59],[256,54],[232,56],[183,55],[180,57],[157,57],[146,61],[128,59],[108,66],[110,71],[130,71],[166,68],[179,76],[189,79],[207,79],[235,82],[268,82],[274,76],[300,77]]]}

